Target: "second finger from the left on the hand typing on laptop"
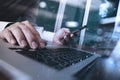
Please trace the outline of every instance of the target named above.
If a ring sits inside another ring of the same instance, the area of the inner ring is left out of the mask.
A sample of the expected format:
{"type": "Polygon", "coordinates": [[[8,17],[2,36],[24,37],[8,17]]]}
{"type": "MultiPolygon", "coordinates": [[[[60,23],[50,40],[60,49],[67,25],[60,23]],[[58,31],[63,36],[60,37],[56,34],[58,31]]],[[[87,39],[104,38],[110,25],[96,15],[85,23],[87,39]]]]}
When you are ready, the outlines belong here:
{"type": "Polygon", "coordinates": [[[26,47],[27,46],[26,38],[21,29],[19,28],[19,26],[22,26],[21,23],[16,23],[14,26],[15,26],[14,28],[10,28],[12,34],[14,35],[18,44],[21,47],[26,47]]]}

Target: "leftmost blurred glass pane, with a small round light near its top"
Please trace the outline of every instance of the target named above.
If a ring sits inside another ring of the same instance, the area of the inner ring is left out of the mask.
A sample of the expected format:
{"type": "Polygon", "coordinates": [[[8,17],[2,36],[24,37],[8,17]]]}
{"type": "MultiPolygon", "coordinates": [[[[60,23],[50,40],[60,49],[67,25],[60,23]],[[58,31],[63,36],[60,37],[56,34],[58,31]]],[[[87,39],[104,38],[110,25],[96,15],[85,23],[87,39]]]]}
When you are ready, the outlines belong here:
{"type": "Polygon", "coordinates": [[[40,0],[37,24],[45,30],[54,31],[59,0],[40,0]]]}

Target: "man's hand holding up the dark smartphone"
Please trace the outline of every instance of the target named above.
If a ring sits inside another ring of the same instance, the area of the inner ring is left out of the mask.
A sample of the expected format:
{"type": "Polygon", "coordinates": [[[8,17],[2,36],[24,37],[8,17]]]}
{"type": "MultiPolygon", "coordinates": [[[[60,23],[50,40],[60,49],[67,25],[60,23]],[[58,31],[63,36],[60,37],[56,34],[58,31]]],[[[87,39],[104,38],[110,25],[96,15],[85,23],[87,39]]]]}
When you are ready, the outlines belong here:
{"type": "Polygon", "coordinates": [[[64,42],[68,43],[73,38],[73,36],[73,34],[70,34],[70,30],[68,28],[62,28],[56,32],[53,43],[64,45],[64,42]]]}

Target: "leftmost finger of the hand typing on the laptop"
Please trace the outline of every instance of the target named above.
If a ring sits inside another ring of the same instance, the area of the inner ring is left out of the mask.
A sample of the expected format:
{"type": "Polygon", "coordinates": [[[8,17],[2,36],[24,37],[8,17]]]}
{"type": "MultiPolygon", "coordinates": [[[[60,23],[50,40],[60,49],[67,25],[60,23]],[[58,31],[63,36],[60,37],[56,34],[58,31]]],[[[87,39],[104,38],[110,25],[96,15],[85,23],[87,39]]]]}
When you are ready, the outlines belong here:
{"type": "Polygon", "coordinates": [[[16,44],[16,39],[8,29],[5,29],[1,32],[1,38],[7,40],[8,43],[16,44]]]}

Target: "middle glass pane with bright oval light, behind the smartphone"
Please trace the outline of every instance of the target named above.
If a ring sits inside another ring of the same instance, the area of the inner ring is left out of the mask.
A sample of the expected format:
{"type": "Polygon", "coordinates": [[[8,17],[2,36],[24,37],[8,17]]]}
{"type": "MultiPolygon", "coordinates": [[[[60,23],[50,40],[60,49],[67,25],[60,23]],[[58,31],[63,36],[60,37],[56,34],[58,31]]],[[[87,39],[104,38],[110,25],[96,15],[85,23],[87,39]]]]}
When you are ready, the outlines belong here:
{"type": "MultiPolygon", "coordinates": [[[[87,0],[67,0],[64,16],[62,20],[62,28],[69,28],[71,32],[82,27],[83,17],[87,0]]],[[[71,44],[77,47],[79,43],[79,34],[72,41],[71,44]]]]}

